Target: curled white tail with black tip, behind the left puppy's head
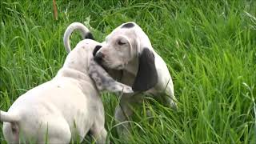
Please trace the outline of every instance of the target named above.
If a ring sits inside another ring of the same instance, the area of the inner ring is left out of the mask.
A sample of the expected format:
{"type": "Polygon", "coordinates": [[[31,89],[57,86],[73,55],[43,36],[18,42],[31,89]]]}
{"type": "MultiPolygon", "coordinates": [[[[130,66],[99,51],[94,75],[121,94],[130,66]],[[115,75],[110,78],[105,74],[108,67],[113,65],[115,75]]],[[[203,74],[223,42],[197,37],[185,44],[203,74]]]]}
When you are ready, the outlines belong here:
{"type": "Polygon", "coordinates": [[[66,28],[65,34],[64,34],[64,38],[63,38],[63,42],[64,42],[64,46],[66,49],[67,53],[70,53],[71,48],[70,48],[70,35],[72,34],[72,32],[74,30],[80,30],[82,32],[82,38],[89,38],[89,39],[94,39],[93,35],[90,33],[90,30],[84,26],[82,23],[80,22],[73,22],[70,24],[70,26],[68,26],[66,28]]]}

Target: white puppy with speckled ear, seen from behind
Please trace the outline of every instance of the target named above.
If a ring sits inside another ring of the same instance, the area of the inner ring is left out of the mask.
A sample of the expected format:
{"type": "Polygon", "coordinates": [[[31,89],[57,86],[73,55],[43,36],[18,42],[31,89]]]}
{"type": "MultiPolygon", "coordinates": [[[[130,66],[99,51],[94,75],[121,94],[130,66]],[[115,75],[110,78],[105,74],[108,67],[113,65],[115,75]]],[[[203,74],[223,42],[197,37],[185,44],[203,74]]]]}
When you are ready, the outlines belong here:
{"type": "Polygon", "coordinates": [[[22,94],[8,112],[0,111],[8,143],[82,142],[89,130],[96,142],[105,143],[105,115],[98,90],[133,91],[94,62],[93,51],[99,44],[90,39],[79,42],[52,80],[22,94]]]}

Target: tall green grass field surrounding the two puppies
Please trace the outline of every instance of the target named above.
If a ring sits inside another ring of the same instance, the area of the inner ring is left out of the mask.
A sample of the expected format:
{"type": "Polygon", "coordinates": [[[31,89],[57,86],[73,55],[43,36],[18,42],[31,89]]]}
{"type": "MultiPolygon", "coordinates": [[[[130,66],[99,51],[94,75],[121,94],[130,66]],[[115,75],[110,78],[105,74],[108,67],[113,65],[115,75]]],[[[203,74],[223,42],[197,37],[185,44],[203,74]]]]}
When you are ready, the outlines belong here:
{"type": "MultiPolygon", "coordinates": [[[[118,138],[118,99],[102,94],[113,143],[256,143],[256,1],[1,1],[0,109],[54,77],[66,58],[62,35],[86,22],[102,42],[122,22],[150,37],[174,79],[178,110],[147,98],[129,141],[118,138]],[[147,117],[146,110],[153,116],[147,117]]],[[[72,46],[79,34],[72,37],[72,46]]],[[[0,143],[5,143],[0,124],[0,143]]],[[[90,143],[86,138],[85,143],[90,143]]]]}

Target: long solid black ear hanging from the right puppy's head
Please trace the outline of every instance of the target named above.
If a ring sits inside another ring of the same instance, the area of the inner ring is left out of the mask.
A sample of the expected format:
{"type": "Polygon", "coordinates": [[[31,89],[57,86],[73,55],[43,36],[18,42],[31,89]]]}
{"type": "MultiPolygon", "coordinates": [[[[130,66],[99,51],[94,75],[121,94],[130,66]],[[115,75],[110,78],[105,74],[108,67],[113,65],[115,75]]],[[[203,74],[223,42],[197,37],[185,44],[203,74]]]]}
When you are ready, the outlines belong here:
{"type": "Polygon", "coordinates": [[[134,91],[146,91],[158,82],[158,73],[154,65],[154,54],[144,48],[139,55],[138,73],[132,86],[134,91]]]}

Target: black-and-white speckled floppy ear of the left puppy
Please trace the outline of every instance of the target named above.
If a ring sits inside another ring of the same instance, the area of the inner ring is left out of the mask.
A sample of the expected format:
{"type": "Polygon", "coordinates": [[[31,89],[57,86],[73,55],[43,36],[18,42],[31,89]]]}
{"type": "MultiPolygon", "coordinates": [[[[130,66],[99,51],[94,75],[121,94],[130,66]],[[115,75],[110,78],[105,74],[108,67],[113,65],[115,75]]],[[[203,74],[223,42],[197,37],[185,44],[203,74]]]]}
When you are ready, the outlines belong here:
{"type": "Polygon", "coordinates": [[[106,73],[106,70],[99,66],[94,59],[90,60],[90,66],[88,73],[97,86],[98,90],[108,90],[110,92],[120,93],[134,93],[130,86],[126,86],[120,82],[115,81],[110,77],[110,74],[106,73]]]}

